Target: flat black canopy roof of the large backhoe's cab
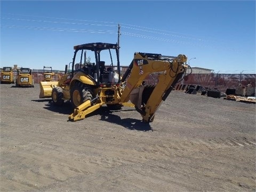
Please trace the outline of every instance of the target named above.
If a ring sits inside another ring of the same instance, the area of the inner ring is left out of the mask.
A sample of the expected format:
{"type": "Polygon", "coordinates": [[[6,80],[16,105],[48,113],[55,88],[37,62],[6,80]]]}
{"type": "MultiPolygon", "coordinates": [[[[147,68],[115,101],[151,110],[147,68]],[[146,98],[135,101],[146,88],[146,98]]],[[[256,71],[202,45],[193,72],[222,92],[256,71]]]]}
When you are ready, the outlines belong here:
{"type": "Polygon", "coordinates": [[[101,51],[101,50],[108,50],[108,49],[117,49],[117,44],[111,44],[111,43],[86,43],[82,45],[76,45],[74,46],[74,50],[91,50],[91,51],[101,51]]]}

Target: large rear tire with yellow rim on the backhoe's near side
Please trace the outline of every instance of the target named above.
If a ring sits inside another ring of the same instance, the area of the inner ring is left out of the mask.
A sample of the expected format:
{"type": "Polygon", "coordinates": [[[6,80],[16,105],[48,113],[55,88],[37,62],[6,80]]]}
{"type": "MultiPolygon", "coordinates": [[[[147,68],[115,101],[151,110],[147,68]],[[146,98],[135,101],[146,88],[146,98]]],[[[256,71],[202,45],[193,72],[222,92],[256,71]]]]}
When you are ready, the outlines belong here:
{"type": "Polygon", "coordinates": [[[92,100],[93,90],[81,82],[76,82],[70,90],[71,106],[75,109],[83,102],[92,100]]]}

